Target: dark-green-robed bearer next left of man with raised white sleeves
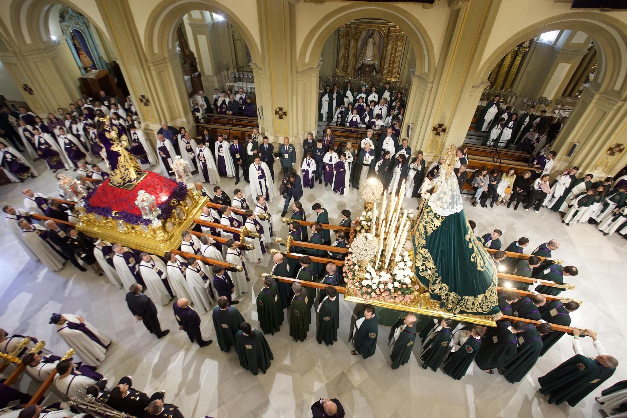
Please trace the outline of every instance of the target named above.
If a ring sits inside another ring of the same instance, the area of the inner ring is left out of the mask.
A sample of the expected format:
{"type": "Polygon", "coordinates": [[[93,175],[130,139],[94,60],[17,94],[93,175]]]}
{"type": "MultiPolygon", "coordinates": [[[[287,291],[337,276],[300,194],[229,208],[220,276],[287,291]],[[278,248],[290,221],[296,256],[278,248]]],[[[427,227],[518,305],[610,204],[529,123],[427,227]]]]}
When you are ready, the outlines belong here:
{"type": "Polygon", "coordinates": [[[527,331],[517,334],[518,351],[503,367],[503,377],[507,382],[520,382],[534,367],[542,351],[542,337],[551,332],[551,324],[527,324],[527,331]]]}

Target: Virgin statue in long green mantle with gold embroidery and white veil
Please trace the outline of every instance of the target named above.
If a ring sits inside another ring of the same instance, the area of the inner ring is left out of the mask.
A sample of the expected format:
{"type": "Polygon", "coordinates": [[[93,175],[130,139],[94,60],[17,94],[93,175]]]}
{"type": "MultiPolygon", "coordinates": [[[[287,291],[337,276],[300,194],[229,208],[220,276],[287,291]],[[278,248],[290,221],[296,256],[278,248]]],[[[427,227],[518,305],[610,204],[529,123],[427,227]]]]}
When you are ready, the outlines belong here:
{"type": "Polygon", "coordinates": [[[421,291],[454,314],[497,316],[497,269],[463,210],[453,168],[455,144],[444,156],[435,191],[422,206],[413,235],[414,271],[421,291]]]}

